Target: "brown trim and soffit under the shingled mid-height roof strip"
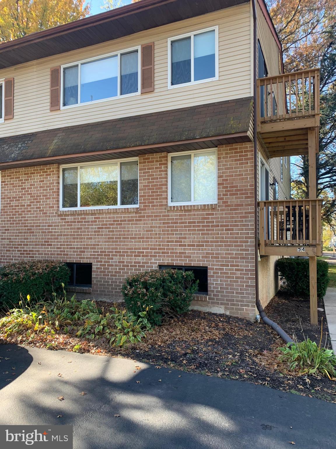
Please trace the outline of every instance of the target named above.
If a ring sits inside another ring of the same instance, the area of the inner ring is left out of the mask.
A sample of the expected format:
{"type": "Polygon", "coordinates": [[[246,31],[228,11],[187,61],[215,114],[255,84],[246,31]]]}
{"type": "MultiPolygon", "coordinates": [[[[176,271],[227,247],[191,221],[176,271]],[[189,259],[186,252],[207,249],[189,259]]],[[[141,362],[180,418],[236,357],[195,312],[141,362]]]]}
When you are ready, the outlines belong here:
{"type": "MultiPolygon", "coordinates": [[[[11,166],[35,166],[40,165],[39,163],[43,162],[49,162],[52,163],[53,161],[61,161],[62,159],[77,159],[81,157],[87,157],[87,156],[97,156],[97,155],[103,155],[103,154],[113,154],[113,153],[126,153],[123,157],[127,158],[129,157],[129,152],[140,150],[140,154],[146,154],[151,153],[152,151],[146,151],[146,150],[155,150],[155,149],[161,149],[157,152],[174,152],[174,151],[188,151],[191,149],[191,147],[182,149],[178,148],[181,145],[188,145],[192,143],[197,142],[209,142],[209,141],[220,141],[223,142],[222,145],[228,144],[228,143],[239,143],[239,142],[249,142],[251,141],[250,136],[248,135],[248,132],[236,132],[234,134],[224,134],[221,136],[211,136],[211,137],[199,137],[197,139],[188,139],[188,140],[182,140],[182,141],[175,141],[175,142],[164,142],[164,143],[158,143],[154,145],[138,145],[134,147],[125,147],[125,148],[118,148],[116,150],[100,150],[100,151],[90,151],[90,152],[84,152],[84,153],[73,153],[73,154],[61,154],[59,156],[48,156],[44,158],[35,158],[35,159],[24,159],[24,160],[18,160],[18,161],[10,161],[10,162],[3,162],[0,163],[0,170],[4,170],[4,167],[11,168],[11,166]],[[168,148],[170,147],[170,148],[168,148]]],[[[99,160],[99,159],[98,159],[99,160]]],[[[60,163],[60,162],[57,162],[60,163]]]]}

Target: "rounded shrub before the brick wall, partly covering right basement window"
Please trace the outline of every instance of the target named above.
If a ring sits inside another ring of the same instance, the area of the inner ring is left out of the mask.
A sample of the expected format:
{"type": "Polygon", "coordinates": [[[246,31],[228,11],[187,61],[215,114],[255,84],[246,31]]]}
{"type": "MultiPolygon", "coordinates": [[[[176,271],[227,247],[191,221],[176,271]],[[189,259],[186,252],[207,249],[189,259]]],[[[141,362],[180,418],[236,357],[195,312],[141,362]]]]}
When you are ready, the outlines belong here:
{"type": "Polygon", "coordinates": [[[137,315],[148,308],[148,321],[162,323],[164,317],[185,313],[197,291],[194,273],[182,270],[153,270],[126,278],[122,286],[126,308],[137,315]]]}

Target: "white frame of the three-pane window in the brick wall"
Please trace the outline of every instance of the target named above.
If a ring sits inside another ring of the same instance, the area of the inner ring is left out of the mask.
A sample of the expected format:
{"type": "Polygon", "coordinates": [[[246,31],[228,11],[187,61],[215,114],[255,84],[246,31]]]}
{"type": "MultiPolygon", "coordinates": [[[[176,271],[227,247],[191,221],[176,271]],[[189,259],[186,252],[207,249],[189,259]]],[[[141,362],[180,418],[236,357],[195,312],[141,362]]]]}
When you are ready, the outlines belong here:
{"type": "Polygon", "coordinates": [[[65,164],[60,166],[60,211],[78,211],[78,210],[91,210],[91,209],[125,209],[127,207],[139,207],[138,204],[125,204],[121,205],[121,173],[120,164],[123,162],[137,161],[138,162],[138,200],[139,200],[139,158],[122,158],[122,159],[108,159],[103,161],[95,162],[84,162],[84,163],[74,163],[65,164]],[[63,169],[69,167],[78,167],[77,170],[77,204],[80,204],[80,167],[85,167],[86,165],[106,165],[106,164],[116,164],[118,166],[118,204],[116,206],[84,206],[84,207],[62,207],[63,203],[63,169]]]}

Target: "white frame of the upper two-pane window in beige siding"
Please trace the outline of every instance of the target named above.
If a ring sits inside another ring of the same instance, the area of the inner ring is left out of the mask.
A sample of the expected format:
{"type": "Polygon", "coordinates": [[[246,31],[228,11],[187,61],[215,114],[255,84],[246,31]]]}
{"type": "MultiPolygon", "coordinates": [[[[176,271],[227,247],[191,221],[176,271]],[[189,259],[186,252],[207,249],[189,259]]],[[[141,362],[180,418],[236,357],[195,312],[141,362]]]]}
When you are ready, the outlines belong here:
{"type": "Polygon", "coordinates": [[[218,25],[204,28],[203,30],[192,31],[191,33],[181,34],[168,38],[168,89],[177,89],[185,86],[194,86],[195,84],[210,83],[211,81],[218,81],[218,25]],[[215,31],[215,77],[207,79],[199,79],[198,81],[190,81],[189,83],[175,84],[172,86],[172,42],[180,40],[185,37],[191,37],[191,79],[194,79],[194,36],[197,34],[206,33],[207,31],[215,31]]]}

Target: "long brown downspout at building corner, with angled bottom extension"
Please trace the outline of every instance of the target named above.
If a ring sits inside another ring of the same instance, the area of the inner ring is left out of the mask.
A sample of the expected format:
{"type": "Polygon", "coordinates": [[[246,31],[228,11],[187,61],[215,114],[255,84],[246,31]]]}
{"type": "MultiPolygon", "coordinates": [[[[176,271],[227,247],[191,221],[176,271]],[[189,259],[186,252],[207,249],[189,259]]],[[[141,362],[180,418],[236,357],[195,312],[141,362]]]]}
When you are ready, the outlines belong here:
{"type": "Polygon", "coordinates": [[[265,324],[271,326],[278,335],[284,340],[285,343],[294,343],[286,332],[274,321],[267,318],[264,312],[263,306],[259,299],[259,276],[258,276],[258,189],[257,189],[257,173],[258,173],[258,150],[257,150],[257,15],[255,1],[252,1],[253,10],[253,135],[254,135],[254,264],[255,264],[255,305],[260,314],[260,318],[265,324]]]}

